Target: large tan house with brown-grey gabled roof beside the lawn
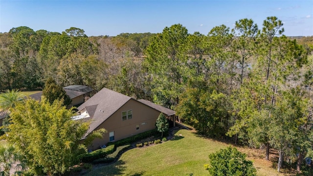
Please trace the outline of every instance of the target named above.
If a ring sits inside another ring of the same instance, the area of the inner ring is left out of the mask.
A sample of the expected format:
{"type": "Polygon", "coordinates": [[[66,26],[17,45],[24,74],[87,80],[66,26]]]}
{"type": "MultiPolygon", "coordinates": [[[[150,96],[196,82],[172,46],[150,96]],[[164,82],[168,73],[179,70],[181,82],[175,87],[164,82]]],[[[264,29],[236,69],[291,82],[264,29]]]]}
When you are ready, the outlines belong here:
{"type": "Polygon", "coordinates": [[[161,112],[175,114],[174,110],[164,107],[156,109],[141,101],[103,88],[79,106],[78,115],[72,119],[90,120],[89,131],[82,140],[93,131],[101,128],[107,130],[108,133],[102,139],[93,140],[89,146],[89,149],[96,150],[108,142],[155,129],[156,119],[161,112]]]}

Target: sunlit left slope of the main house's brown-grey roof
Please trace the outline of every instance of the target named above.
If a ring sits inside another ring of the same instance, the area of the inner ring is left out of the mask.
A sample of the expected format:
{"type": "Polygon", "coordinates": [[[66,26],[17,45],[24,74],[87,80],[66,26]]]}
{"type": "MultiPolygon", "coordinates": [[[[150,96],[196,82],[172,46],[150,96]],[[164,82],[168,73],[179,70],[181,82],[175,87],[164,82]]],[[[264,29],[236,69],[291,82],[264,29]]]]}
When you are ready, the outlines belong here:
{"type": "Polygon", "coordinates": [[[89,130],[84,137],[94,131],[130,99],[132,98],[129,96],[115,92],[108,88],[102,88],[99,92],[89,98],[88,101],[79,106],[77,108],[78,111],[85,109],[91,117],[89,130]]]}

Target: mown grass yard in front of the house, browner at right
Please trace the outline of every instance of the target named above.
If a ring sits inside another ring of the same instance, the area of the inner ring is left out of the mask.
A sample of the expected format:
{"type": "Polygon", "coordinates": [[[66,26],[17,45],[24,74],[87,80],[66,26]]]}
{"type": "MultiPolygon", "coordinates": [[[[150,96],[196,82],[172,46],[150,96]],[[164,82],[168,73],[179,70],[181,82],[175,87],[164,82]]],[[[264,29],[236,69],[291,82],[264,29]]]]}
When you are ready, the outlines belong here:
{"type": "MultiPolygon", "coordinates": [[[[194,131],[179,130],[173,140],[129,150],[116,163],[95,168],[85,176],[205,176],[208,172],[203,165],[209,163],[208,155],[226,146],[226,143],[199,137],[194,131]]],[[[239,150],[248,152],[258,175],[289,176],[277,173],[271,161],[254,157],[254,150],[239,150]]]]}

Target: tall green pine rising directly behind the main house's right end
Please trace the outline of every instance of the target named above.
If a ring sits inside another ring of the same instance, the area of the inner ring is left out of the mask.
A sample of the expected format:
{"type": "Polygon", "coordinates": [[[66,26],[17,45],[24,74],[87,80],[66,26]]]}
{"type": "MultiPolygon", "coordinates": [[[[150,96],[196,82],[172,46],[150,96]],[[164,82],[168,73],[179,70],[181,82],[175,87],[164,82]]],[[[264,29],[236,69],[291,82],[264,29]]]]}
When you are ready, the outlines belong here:
{"type": "Polygon", "coordinates": [[[188,77],[185,74],[187,37],[186,27],[174,24],[165,27],[147,46],[144,66],[153,75],[155,101],[166,107],[179,103],[179,94],[188,77]]]}

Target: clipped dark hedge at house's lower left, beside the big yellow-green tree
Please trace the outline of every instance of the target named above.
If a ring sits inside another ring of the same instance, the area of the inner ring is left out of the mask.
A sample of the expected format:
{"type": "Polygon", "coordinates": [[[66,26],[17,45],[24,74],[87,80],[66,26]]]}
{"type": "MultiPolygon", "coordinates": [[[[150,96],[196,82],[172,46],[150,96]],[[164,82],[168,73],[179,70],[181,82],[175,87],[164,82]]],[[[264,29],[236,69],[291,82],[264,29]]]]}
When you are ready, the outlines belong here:
{"type": "Polygon", "coordinates": [[[110,145],[104,149],[99,149],[90,153],[86,154],[80,154],[78,157],[81,160],[81,162],[91,162],[93,160],[96,160],[98,158],[102,158],[107,156],[108,154],[112,154],[115,151],[114,145],[110,145]]]}

